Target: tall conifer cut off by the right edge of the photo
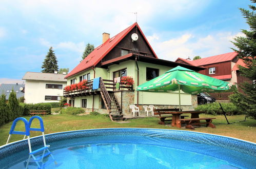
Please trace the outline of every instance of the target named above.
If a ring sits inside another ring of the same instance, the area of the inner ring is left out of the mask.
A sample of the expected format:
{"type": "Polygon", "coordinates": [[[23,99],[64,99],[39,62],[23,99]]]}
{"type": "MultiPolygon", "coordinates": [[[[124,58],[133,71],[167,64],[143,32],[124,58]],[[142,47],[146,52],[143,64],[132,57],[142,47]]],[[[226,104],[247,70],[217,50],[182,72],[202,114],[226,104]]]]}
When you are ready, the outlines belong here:
{"type": "MultiPolygon", "coordinates": [[[[252,3],[256,3],[256,0],[251,0],[252,3]]],[[[233,103],[244,111],[247,117],[256,119],[256,7],[249,5],[252,10],[246,10],[240,8],[242,15],[246,19],[246,23],[249,25],[250,30],[242,29],[245,37],[235,37],[232,43],[238,48],[233,49],[238,52],[238,57],[243,59],[246,64],[245,67],[239,66],[239,72],[242,76],[250,79],[250,82],[243,82],[240,88],[244,93],[235,92],[230,96],[233,103]]]]}

